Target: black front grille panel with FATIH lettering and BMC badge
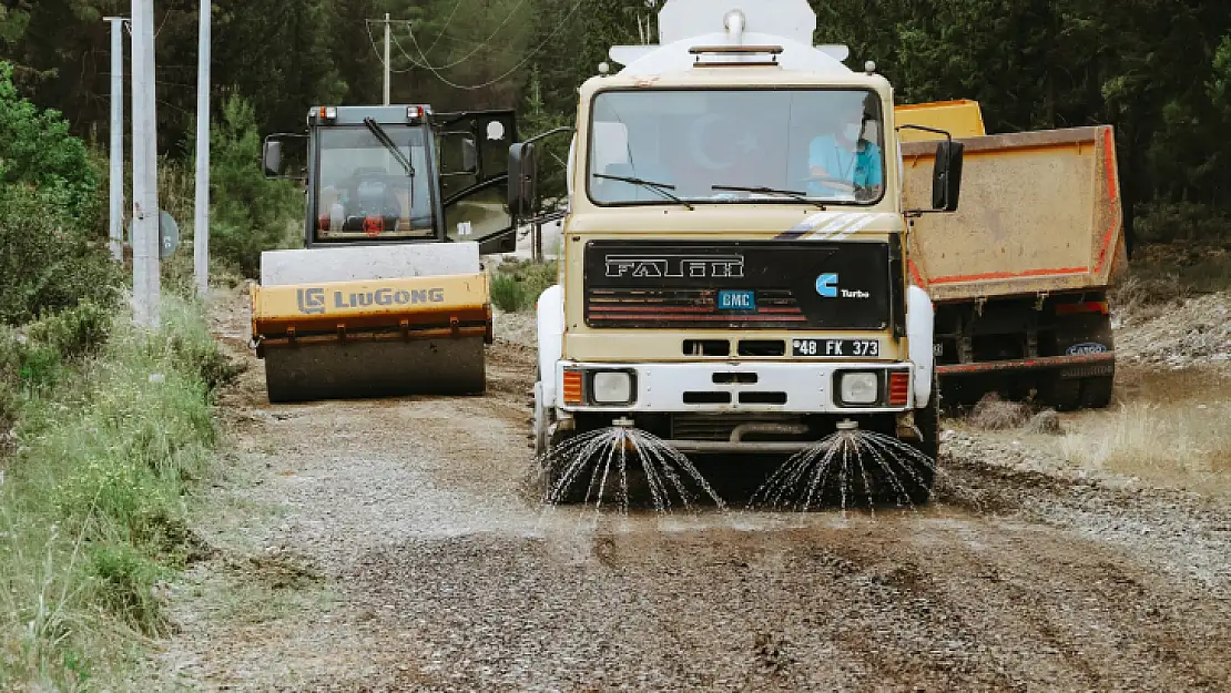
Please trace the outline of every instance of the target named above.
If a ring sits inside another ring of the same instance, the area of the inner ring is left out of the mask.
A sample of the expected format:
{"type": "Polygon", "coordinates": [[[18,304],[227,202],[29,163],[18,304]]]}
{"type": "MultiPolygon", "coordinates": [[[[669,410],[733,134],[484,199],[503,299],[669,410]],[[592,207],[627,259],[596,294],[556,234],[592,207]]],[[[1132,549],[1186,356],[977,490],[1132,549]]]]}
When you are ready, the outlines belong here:
{"type": "Polygon", "coordinates": [[[592,240],[596,329],[884,330],[902,278],[885,241],[592,240]]]}

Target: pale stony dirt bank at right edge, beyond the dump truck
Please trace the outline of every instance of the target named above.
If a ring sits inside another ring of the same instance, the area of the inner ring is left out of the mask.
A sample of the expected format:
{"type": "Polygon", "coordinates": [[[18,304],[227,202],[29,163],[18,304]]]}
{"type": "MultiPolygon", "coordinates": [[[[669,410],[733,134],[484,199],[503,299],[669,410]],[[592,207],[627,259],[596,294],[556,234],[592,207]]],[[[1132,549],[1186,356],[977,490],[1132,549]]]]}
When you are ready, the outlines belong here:
{"type": "Polygon", "coordinates": [[[1184,300],[1152,319],[1117,331],[1119,358],[1142,366],[1231,368],[1231,292],[1184,300]]]}

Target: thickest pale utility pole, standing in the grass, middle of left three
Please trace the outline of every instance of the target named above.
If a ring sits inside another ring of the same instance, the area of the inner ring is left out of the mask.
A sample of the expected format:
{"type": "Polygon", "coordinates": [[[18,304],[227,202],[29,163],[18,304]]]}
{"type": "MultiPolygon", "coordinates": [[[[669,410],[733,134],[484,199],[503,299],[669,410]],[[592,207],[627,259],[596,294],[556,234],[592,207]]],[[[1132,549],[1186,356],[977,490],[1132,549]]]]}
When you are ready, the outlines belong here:
{"type": "Polygon", "coordinates": [[[159,325],[158,119],[154,0],[133,0],[133,321],[159,325]]]}

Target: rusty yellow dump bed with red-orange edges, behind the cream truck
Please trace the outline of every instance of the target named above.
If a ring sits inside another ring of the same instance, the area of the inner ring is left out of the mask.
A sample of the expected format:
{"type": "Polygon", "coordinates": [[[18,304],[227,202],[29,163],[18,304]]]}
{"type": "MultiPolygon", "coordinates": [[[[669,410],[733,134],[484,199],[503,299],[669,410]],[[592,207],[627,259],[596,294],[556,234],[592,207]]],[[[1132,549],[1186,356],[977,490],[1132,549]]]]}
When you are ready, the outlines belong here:
{"type": "MultiPolygon", "coordinates": [[[[1110,283],[1124,254],[1110,127],[960,142],[965,161],[958,212],[923,214],[915,219],[911,234],[912,279],[932,300],[1056,293],[1110,283]]],[[[929,209],[936,142],[904,142],[901,146],[906,208],[929,209]]]]}

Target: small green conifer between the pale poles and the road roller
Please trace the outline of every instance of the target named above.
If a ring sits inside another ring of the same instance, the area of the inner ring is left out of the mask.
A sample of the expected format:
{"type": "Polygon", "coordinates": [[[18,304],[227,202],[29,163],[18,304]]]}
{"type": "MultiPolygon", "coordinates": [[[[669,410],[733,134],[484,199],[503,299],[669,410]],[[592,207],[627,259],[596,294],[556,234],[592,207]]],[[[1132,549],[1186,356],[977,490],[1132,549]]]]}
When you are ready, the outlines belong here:
{"type": "Polygon", "coordinates": [[[286,181],[268,181],[260,167],[261,138],[252,106],[227,100],[211,145],[211,250],[247,277],[256,277],[261,251],[297,242],[303,196],[286,181]]]}

